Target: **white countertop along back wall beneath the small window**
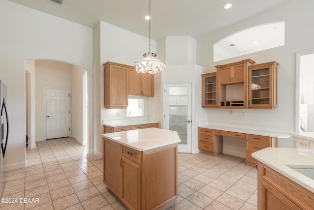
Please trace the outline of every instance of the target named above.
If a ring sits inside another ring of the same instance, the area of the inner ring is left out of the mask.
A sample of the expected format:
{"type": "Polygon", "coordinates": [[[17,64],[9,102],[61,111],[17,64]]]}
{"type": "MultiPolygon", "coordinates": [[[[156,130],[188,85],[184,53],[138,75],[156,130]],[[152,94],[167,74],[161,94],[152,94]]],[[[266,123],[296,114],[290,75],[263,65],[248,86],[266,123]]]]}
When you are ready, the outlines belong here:
{"type": "Polygon", "coordinates": [[[150,124],[158,123],[159,120],[155,118],[129,118],[129,119],[117,119],[117,120],[103,120],[103,125],[110,127],[128,126],[128,125],[139,125],[139,124],[150,124]]]}

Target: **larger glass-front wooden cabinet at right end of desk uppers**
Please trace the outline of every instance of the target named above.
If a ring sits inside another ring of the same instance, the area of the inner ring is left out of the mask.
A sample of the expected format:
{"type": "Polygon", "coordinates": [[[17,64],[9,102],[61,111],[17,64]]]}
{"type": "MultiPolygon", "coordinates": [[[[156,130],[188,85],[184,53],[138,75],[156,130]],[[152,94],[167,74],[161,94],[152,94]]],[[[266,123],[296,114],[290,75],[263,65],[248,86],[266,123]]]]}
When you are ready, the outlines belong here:
{"type": "Polygon", "coordinates": [[[249,108],[274,109],[277,107],[276,61],[249,66],[249,108]]]}

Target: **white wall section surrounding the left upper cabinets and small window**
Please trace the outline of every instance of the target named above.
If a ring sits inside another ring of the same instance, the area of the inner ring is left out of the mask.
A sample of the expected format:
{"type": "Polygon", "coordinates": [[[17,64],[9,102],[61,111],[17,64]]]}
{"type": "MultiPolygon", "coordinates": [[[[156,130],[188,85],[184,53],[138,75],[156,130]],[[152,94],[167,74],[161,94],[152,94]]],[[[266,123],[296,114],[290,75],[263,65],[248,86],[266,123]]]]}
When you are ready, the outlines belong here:
{"type": "MultiPolygon", "coordinates": [[[[143,58],[143,53],[149,51],[149,39],[128,30],[111,24],[100,22],[94,29],[95,52],[95,110],[100,110],[100,115],[95,112],[95,146],[94,153],[103,153],[102,134],[103,119],[121,119],[127,117],[126,109],[105,109],[104,107],[104,66],[107,61],[134,65],[134,62],[143,58]],[[119,113],[116,116],[116,113],[119,113]]],[[[151,40],[151,52],[156,52],[156,41],[151,40]]],[[[160,103],[157,98],[149,98],[148,103],[160,103]],[[153,101],[152,101],[153,100],[153,101]]],[[[161,109],[160,109],[161,112],[161,109]]],[[[151,117],[151,116],[150,116],[151,117]]]]}

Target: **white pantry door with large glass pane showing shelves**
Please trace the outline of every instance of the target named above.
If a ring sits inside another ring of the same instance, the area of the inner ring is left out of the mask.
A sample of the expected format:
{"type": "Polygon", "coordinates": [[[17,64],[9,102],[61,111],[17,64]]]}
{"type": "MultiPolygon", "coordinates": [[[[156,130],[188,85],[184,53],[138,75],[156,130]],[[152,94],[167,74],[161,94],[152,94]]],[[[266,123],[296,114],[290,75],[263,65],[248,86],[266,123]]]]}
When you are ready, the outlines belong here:
{"type": "Polygon", "coordinates": [[[165,83],[164,128],[177,131],[179,152],[191,153],[191,83],[165,83]]]}

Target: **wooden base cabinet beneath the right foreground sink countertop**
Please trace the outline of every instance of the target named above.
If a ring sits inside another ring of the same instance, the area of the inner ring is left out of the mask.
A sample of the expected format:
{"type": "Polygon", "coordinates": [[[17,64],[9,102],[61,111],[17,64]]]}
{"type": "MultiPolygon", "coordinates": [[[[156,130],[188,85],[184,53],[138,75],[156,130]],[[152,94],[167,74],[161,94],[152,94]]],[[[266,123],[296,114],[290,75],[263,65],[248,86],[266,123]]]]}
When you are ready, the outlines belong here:
{"type": "Polygon", "coordinates": [[[313,210],[314,193],[258,161],[258,210],[313,210]]]}

